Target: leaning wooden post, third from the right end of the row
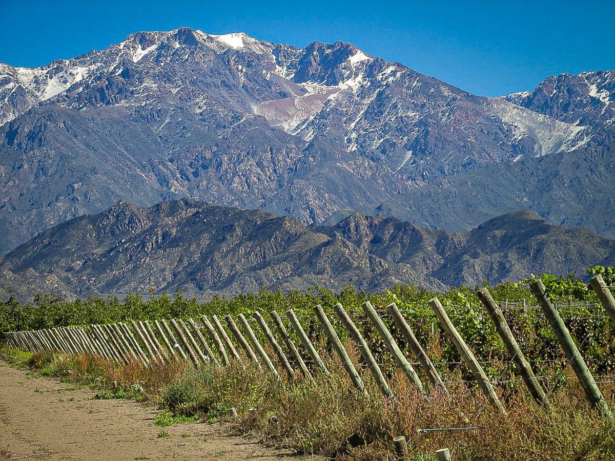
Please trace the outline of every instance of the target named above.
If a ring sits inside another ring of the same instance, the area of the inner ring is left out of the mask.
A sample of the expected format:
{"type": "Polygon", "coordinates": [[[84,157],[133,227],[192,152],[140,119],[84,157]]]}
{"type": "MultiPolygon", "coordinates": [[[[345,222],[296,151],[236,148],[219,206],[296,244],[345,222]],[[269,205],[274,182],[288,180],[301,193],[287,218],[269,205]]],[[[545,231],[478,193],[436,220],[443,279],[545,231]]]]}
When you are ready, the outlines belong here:
{"type": "Polygon", "coordinates": [[[523,381],[525,381],[525,385],[528,387],[528,390],[530,390],[534,400],[542,404],[546,401],[547,396],[536,379],[536,376],[534,376],[530,363],[525,359],[525,355],[523,355],[514,334],[510,331],[510,327],[506,318],[504,318],[502,309],[496,304],[489,290],[486,288],[478,290],[476,294],[480,302],[485,306],[487,312],[489,312],[489,315],[491,315],[493,322],[496,324],[496,331],[498,331],[499,336],[502,338],[502,341],[504,341],[504,345],[506,345],[508,353],[512,356],[512,361],[515,363],[515,367],[523,378],[523,381]]]}

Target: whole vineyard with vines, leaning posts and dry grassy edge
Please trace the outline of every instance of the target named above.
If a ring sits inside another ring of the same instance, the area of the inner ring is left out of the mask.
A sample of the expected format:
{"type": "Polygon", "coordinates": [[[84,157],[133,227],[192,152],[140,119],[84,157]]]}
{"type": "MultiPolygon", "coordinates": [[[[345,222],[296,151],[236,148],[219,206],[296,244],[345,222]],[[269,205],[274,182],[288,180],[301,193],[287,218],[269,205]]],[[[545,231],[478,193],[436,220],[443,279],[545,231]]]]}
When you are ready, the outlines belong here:
{"type": "Polygon", "coordinates": [[[615,454],[615,267],[587,272],[589,285],[541,275],[445,293],[9,299],[2,351],[176,414],[230,414],[303,452],[605,459],[615,454]]]}

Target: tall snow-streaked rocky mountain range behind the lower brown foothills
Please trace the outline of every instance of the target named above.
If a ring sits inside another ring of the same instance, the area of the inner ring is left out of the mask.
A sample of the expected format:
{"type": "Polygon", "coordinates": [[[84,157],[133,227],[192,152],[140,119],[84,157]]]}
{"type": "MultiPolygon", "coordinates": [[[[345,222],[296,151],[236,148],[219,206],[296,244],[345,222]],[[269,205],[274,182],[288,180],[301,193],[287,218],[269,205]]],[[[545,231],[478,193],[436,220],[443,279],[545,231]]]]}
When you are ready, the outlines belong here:
{"type": "Polygon", "coordinates": [[[0,64],[0,254],[117,200],[183,196],[456,231],[530,208],[613,237],[613,72],[553,81],[483,98],[343,42],[188,28],[0,64]]]}

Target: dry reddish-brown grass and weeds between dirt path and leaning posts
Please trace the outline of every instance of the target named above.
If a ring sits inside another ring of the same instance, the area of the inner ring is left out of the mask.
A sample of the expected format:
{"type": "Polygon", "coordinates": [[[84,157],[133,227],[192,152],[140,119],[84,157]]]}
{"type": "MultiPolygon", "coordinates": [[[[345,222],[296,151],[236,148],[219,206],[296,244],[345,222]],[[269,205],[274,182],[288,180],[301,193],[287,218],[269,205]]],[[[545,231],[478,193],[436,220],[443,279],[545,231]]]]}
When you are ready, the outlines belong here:
{"type": "MultiPolygon", "coordinates": [[[[423,395],[400,372],[389,379],[394,400],[381,395],[367,372],[368,395],[362,395],[335,358],[327,358],[330,376],[315,374],[313,380],[292,384],[252,363],[144,368],[137,362],[124,366],[87,355],[38,353],[30,364],[45,374],[102,388],[137,386],[145,398],[178,414],[216,419],[237,408],[239,417],[231,422],[236,430],[336,459],[391,459],[397,435],[407,437],[416,460],[431,460],[442,447],[449,447],[455,460],[615,459],[615,427],[589,408],[573,380],[550,395],[548,408],[539,408],[525,392],[510,393],[504,416],[461,382],[451,386],[450,399],[437,390],[423,395]],[[480,429],[417,432],[466,426],[464,415],[480,429]]],[[[606,396],[615,392],[612,384],[602,389],[606,396]]]]}

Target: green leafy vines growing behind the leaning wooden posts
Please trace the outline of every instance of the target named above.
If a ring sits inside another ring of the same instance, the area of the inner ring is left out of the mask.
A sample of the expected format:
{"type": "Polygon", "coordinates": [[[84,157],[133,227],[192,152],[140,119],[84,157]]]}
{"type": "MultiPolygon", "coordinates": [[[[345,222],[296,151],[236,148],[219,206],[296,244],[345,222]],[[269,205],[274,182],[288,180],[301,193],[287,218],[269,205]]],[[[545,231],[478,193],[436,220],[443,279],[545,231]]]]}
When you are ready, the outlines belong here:
{"type": "MultiPolygon", "coordinates": [[[[595,266],[587,274],[601,274],[608,285],[615,284],[615,267],[595,266]]],[[[518,283],[501,283],[490,286],[483,282],[494,299],[502,305],[516,306],[505,310],[505,316],[526,358],[530,360],[537,376],[549,376],[549,387],[563,384],[568,362],[554,332],[536,306],[528,283],[542,280],[547,293],[557,303],[566,326],[577,340],[581,353],[592,371],[597,374],[615,372],[615,325],[606,315],[600,302],[579,275],[556,277],[552,274],[532,275],[518,283]]],[[[309,331],[312,339],[325,345],[326,338],[314,319],[314,305],[320,304],[328,313],[339,335],[346,339],[347,332],[333,312],[338,302],[350,313],[355,323],[370,342],[370,347],[387,374],[395,367],[383,341],[363,314],[362,303],[370,301],[384,318],[400,347],[407,345],[397,331],[394,321],[386,313],[386,306],[395,302],[415,333],[419,342],[431,355],[436,366],[443,372],[461,371],[462,377],[471,379],[469,371],[460,366],[458,353],[448,336],[440,328],[429,300],[438,297],[445,306],[459,333],[474,350],[483,367],[494,379],[501,380],[502,387],[511,392],[518,388],[520,380],[510,364],[504,344],[496,333],[493,321],[475,296],[479,286],[461,286],[444,292],[436,292],[408,285],[395,285],[391,290],[368,293],[354,286],[344,286],[339,293],[315,286],[309,290],[261,289],[258,293],[242,293],[233,297],[214,296],[210,301],[200,302],[184,296],[161,293],[151,289],[148,293],[133,293],[124,299],[116,296],[67,300],[55,294],[34,297],[31,303],[22,304],[14,297],[0,301],[0,332],[27,329],[53,328],[66,325],[90,325],[130,320],[159,320],[169,318],[198,318],[201,315],[223,317],[239,313],[259,311],[268,317],[277,310],[284,317],[288,309],[296,314],[309,331]]],[[[2,337],[0,336],[0,341],[2,337]]],[[[407,349],[405,349],[407,350],[407,349]]]]}

